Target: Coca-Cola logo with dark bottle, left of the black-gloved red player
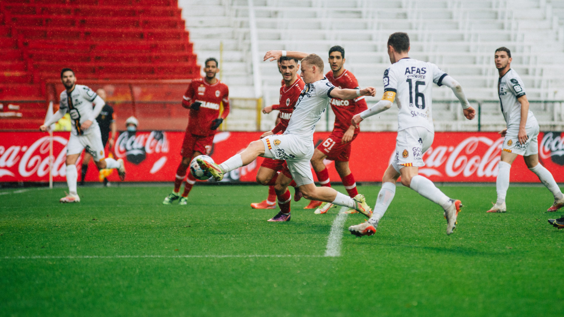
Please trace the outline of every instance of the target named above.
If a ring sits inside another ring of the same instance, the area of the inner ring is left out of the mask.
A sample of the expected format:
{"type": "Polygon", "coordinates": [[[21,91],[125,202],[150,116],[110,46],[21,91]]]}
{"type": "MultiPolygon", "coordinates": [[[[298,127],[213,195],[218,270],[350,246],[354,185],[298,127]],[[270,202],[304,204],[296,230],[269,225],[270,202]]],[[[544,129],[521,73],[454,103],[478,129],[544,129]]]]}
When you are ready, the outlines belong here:
{"type": "Polygon", "coordinates": [[[151,131],[150,133],[121,133],[117,138],[114,149],[118,158],[126,158],[133,164],[140,164],[147,154],[168,153],[169,142],[163,131],[151,131]]]}

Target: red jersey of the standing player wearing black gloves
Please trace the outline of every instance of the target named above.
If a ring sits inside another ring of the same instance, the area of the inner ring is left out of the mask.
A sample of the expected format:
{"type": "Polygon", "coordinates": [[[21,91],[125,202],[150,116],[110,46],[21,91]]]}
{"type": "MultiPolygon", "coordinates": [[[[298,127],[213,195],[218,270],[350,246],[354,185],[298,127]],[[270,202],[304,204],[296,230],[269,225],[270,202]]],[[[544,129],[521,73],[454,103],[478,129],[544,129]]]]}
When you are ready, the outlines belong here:
{"type": "Polygon", "coordinates": [[[192,80],[186,93],[184,93],[182,104],[185,107],[194,102],[200,102],[200,109],[190,109],[188,127],[192,134],[207,136],[215,134],[211,130],[213,120],[219,118],[219,104],[223,102],[223,113],[221,118],[225,119],[229,114],[229,88],[221,81],[210,85],[204,78],[192,80]]]}

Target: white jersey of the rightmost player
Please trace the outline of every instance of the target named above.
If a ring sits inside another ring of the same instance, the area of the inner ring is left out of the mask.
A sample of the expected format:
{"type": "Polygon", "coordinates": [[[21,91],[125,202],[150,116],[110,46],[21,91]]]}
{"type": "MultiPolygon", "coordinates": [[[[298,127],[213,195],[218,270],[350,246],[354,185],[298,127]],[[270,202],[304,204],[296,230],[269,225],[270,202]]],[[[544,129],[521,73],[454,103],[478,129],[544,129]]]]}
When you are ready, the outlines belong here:
{"type": "MultiPolygon", "coordinates": [[[[521,77],[513,69],[509,69],[503,77],[497,81],[497,93],[499,94],[499,102],[501,112],[507,123],[507,129],[519,131],[521,123],[521,103],[517,98],[525,95],[525,85],[521,77]]],[[[535,115],[529,110],[527,115],[527,124],[525,129],[535,126],[535,115]]]]}

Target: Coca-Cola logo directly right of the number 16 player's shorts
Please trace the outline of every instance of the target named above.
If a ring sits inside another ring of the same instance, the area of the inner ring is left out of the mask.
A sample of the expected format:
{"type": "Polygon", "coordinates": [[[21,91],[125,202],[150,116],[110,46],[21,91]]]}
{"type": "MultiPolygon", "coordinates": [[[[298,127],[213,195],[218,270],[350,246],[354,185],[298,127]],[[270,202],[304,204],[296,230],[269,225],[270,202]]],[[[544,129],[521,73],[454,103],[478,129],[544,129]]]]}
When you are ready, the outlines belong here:
{"type": "MultiPolygon", "coordinates": [[[[441,171],[447,177],[460,174],[463,177],[496,177],[502,143],[503,138],[470,137],[457,146],[430,147],[422,156],[425,166],[419,169],[419,173],[427,177],[443,176],[441,171]]],[[[394,158],[395,151],[390,156],[390,163],[394,158]]]]}

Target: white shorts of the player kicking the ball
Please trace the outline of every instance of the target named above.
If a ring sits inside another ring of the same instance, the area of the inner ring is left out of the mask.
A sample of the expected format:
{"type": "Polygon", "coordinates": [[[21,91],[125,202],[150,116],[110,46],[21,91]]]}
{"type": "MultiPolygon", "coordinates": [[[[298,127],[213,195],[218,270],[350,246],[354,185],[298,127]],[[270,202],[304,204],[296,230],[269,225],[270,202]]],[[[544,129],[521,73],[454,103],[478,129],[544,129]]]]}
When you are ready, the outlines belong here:
{"type": "Polygon", "coordinates": [[[314,143],[292,134],[274,134],[261,139],[265,144],[264,157],[285,160],[297,186],[311,184],[310,160],[314,155],[314,143]]]}

